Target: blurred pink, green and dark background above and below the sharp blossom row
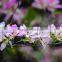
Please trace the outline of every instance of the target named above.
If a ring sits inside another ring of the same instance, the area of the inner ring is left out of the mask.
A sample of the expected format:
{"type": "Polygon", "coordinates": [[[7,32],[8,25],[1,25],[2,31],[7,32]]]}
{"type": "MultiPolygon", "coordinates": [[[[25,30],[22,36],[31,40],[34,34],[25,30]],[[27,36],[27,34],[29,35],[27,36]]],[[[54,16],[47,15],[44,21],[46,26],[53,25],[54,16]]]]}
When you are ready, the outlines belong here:
{"type": "MultiPolygon", "coordinates": [[[[62,24],[62,0],[0,0],[0,23],[47,27],[62,24]],[[48,2],[52,1],[52,2],[48,2]]],[[[0,62],[62,62],[62,48],[43,50],[40,43],[9,45],[0,51],[0,62]]]]}

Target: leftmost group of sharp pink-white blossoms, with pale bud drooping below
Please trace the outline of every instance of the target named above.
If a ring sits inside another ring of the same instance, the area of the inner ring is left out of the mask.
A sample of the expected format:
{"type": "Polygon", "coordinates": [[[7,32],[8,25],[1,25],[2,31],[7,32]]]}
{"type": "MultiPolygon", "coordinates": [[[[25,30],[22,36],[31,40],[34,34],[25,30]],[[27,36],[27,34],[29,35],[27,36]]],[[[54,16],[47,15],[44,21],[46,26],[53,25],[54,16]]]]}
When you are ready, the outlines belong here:
{"type": "Polygon", "coordinates": [[[7,27],[5,27],[4,22],[0,23],[0,42],[2,43],[0,49],[3,50],[8,43],[12,46],[12,39],[14,39],[16,36],[26,36],[26,34],[27,28],[25,25],[17,27],[16,24],[8,24],[7,27]]]}

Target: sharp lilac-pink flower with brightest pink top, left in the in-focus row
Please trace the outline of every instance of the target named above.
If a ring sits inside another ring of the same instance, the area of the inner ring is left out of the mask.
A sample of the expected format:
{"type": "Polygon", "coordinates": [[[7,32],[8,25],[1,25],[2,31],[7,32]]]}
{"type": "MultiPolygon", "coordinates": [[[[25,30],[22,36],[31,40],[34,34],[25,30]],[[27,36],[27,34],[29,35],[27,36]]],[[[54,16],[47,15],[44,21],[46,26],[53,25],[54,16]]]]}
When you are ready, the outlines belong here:
{"type": "Polygon", "coordinates": [[[12,36],[12,35],[17,35],[18,33],[18,27],[16,24],[10,26],[10,25],[7,25],[7,28],[5,30],[5,35],[6,36],[12,36]]]}

